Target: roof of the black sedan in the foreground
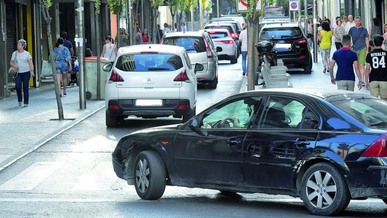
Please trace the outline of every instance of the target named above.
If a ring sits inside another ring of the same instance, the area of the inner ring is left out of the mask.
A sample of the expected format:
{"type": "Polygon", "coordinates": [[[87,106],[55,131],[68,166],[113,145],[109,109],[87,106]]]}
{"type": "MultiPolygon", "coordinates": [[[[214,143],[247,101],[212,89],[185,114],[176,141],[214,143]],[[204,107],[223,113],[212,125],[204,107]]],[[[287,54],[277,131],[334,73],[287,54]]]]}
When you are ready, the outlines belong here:
{"type": "MultiPolygon", "coordinates": [[[[362,93],[356,93],[353,91],[347,91],[347,90],[339,90],[339,89],[300,89],[300,88],[271,88],[271,89],[259,89],[259,90],[253,90],[248,91],[247,93],[256,92],[256,93],[289,93],[289,94],[306,94],[306,95],[313,95],[319,98],[328,98],[335,95],[364,95],[371,98],[370,95],[362,94],[362,93]]],[[[246,92],[245,92],[246,93],[246,92]]]]}

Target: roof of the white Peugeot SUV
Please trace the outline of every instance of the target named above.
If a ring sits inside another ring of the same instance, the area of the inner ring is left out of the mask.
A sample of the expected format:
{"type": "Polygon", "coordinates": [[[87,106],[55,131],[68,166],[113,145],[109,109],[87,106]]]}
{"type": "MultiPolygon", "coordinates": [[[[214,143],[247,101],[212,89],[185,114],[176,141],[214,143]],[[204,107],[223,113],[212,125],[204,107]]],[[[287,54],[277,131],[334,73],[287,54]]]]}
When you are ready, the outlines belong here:
{"type": "Polygon", "coordinates": [[[138,53],[141,51],[163,51],[165,53],[181,53],[185,48],[174,45],[165,45],[165,44],[141,44],[141,45],[132,45],[120,47],[118,49],[119,53],[138,53]]]}

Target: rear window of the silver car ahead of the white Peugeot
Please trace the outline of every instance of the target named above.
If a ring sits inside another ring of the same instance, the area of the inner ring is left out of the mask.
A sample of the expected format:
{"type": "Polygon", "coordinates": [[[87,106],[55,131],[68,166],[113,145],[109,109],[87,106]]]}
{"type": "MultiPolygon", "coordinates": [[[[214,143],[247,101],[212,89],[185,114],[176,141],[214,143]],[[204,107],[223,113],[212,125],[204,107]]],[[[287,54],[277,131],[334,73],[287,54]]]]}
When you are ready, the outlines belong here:
{"type": "Polygon", "coordinates": [[[184,47],[188,53],[206,52],[206,43],[203,37],[168,37],[163,44],[184,47]]]}

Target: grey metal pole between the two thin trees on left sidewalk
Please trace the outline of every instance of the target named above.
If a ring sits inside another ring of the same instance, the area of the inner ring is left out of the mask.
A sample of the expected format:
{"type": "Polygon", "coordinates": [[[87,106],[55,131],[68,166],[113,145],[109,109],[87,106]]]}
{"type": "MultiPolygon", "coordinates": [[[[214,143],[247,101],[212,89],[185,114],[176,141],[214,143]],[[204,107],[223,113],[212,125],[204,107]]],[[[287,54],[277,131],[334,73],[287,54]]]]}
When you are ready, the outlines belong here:
{"type": "Polygon", "coordinates": [[[76,35],[77,55],[79,63],[79,108],[86,109],[86,81],[85,81],[85,49],[84,49],[84,8],[83,0],[77,0],[78,33],[76,35]]]}

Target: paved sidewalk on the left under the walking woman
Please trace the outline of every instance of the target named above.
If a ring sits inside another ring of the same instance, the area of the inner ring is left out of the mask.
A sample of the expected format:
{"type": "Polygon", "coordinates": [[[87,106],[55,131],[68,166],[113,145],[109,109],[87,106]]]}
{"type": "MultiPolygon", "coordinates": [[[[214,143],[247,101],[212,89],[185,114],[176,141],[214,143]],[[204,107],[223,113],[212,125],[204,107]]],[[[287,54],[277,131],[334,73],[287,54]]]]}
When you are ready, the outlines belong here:
{"type": "MultiPolygon", "coordinates": [[[[30,88],[28,107],[18,107],[17,95],[0,99],[0,170],[99,111],[105,101],[88,100],[79,109],[79,88],[62,97],[63,121],[58,121],[54,85],[30,88]],[[56,119],[56,120],[51,120],[56,119]]],[[[22,104],[24,105],[24,103],[22,104]]]]}

